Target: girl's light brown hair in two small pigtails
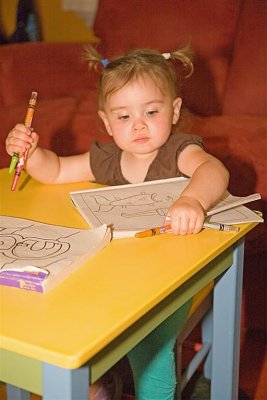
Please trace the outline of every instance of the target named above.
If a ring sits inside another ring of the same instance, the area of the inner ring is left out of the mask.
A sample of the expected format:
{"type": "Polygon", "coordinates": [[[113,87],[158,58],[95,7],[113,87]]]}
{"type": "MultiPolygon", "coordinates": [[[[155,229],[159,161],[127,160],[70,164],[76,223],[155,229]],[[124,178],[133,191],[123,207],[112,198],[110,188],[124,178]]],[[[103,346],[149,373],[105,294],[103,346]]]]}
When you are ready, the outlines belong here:
{"type": "Polygon", "coordinates": [[[85,58],[90,68],[102,64],[99,80],[99,108],[103,109],[108,96],[127,83],[149,76],[160,90],[169,90],[173,98],[179,96],[181,80],[193,73],[192,51],[189,46],[171,53],[151,49],[135,49],[111,61],[102,59],[93,47],[88,47],[85,58]],[[172,61],[179,61],[179,64],[172,61]],[[177,66],[177,68],[175,68],[177,66]],[[179,69],[178,69],[179,67],[179,69]]]}

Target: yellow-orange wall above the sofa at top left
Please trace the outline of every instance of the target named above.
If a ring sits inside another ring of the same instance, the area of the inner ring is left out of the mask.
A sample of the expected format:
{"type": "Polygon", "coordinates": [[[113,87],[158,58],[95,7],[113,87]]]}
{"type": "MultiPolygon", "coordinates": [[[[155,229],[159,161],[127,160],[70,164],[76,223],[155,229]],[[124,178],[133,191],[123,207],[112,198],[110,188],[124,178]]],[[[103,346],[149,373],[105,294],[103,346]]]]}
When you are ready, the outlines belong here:
{"type": "MultiPolygon", "coordinates": [[[[34,5],[46,42],[95,42],[85,21],[74,12],[62,11],[61,0],[35,0],[34,5]]],[[[16,26],[18,0],[0,0],[0,28],[6,37],[16,26]]]]}

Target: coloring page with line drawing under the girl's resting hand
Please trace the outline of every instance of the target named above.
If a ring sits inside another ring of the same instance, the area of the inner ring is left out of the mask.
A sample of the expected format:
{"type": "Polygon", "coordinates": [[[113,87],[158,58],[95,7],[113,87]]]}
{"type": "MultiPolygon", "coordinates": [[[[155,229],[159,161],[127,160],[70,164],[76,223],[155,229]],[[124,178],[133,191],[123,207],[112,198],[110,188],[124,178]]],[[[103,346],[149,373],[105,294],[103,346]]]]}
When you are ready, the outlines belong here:
{"type": "MultiPolygon", "coordinates": [[[[178,178],[179,179],[179,178],[178,178]]],[[[138,231],[163,224],[171,204],[188,184],[169,179],[141,185],[123,185],[72,192],[74,204],[93,227],[103,223],[116,231],[138,231]]]]}

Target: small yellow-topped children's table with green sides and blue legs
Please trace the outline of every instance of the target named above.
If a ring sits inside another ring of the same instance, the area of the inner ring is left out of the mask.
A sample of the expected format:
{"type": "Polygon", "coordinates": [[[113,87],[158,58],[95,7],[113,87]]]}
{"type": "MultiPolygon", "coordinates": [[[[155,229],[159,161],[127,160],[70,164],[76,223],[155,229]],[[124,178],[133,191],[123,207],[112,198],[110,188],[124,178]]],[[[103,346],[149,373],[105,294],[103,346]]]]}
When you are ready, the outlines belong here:
{"type": "MultiPolygon", "coordinates": [[[[25,174],[11,192],[11,180],[0,171],[2,215],[87,227],[69,192],[97,185],[42,185],[25,174]]],[[[89,372],[97,379],[215,279],[211,398],[237,399],[243,237],[255,225],[113,240],[46,295],[0,287],[0,380],[17,398],[87,399],[89,372]]]]}

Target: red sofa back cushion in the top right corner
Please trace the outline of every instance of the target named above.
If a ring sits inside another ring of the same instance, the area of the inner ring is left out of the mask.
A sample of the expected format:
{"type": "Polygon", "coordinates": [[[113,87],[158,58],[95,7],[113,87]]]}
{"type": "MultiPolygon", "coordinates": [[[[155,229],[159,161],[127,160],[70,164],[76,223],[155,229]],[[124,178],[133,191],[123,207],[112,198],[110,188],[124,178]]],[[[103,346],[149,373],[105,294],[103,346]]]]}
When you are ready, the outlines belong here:
{"type": "Polygon", "coordinates": [[[267,115],[267,6],[265,1],[244,3],[223,111],[267,115]]]}

